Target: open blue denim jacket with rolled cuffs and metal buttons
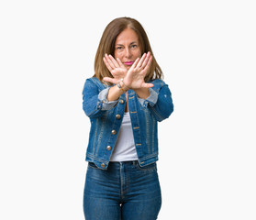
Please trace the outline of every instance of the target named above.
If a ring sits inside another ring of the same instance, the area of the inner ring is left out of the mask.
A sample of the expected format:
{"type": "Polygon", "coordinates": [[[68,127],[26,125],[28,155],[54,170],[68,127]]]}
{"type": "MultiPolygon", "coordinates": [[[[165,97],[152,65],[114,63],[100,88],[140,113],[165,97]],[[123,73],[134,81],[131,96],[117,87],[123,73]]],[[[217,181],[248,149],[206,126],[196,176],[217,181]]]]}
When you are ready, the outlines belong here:
{"type": "MultiPolygon", "coordinates": [[[[161,80],[151,83],[154,86],[150,88],[150,96],[146,100],[128,90],[128,110],[141,167],[158,160],[157,122],[168,118],[173,112],[172,93],[168,85],[161,80]]],[[[108,102],[109,88],[95,77],[87,79],[83,87],[83,111],[91,121],[86,161],[94,162],[103,170],[107,169],[115,148],[126,107],[125,93],[117,101],[108,102]]]]}

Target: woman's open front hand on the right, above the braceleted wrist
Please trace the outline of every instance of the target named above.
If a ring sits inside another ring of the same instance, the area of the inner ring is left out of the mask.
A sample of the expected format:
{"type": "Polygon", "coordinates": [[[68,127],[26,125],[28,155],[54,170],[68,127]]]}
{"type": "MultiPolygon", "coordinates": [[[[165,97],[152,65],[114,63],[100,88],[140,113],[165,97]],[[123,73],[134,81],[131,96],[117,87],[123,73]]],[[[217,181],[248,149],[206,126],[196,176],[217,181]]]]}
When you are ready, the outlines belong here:
{"type": "Polygon", "coordinates": [[[130,89],[150,88],[154,85],[152,83],[146,83],[144,78],[150,69],[150,63],[152,61],[152,55],[150,52],[144,53],[143,56],[132,64],[128,73],[126,74],[123,82],[130,89]]]}

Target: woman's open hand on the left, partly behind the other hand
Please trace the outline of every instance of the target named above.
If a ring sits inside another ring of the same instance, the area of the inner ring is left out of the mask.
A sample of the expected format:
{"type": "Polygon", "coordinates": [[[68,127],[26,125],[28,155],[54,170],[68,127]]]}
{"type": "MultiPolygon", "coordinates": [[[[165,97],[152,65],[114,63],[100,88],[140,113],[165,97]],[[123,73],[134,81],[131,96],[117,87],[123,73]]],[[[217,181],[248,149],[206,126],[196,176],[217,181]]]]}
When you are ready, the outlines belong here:
{"type": "Polygon", "coordinates": [[[115,60],[111,55],[107,55],[107,54],[105,55],[103,60],[106,64],[106,68],[108,69],[108,71],[110,71],[110,73],[114,77],[114,79],[105,77],[104,81],[117,84],[120,81],[120,79],[123,79],[126,76],[128,69],[121,62],[121,60],[119,60],[118,58],[117,60],[115,60]]]}

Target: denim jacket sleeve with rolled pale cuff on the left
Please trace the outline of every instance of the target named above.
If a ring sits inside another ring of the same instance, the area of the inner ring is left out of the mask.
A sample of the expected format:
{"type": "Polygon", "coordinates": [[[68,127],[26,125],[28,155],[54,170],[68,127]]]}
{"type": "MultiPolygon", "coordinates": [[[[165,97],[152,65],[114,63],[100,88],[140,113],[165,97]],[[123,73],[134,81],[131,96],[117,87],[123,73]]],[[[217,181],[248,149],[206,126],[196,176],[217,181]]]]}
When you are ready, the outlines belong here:
{"type": "Polygon", "coordinates": [[[103,90],[90,78],[83,86],[83,111],[89,117],[99,117],[112,109],[117,101],[108,102],[107,93],[110,87],[103,90]]]}

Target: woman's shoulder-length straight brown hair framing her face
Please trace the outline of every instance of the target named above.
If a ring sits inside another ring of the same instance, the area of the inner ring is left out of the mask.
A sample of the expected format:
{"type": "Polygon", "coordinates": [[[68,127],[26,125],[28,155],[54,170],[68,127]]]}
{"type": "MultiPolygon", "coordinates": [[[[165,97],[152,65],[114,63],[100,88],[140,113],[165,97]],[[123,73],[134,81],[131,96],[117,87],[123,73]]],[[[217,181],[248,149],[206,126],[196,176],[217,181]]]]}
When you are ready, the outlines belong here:
{"type": "MultiPolygon", "coordinates": [[[[103,58],[105,54],[111,54],[114,57],[117,36],[126,28],[131,28],[137,33],[139,37],[139,47],[141,49],[141,55],[143,53],[147,53],[148,51],[153,54],[150,47],[149,38],[144,28],[139,24],[139,21],[130,17],[119,17],[114,19],[106,26],[95,55],[94,77],[97,77],[101,82],[103,77],[113,78],[110,71],[108,71],[108,69],[106,68],[106,64],[103,61],[103,58]]],[[[150,71],[145,77],[145,82],[154,79],[161,79],[162,77],[163,75],[161,68],[155,60],[154,56],[152,56],[150,71]]]]}

